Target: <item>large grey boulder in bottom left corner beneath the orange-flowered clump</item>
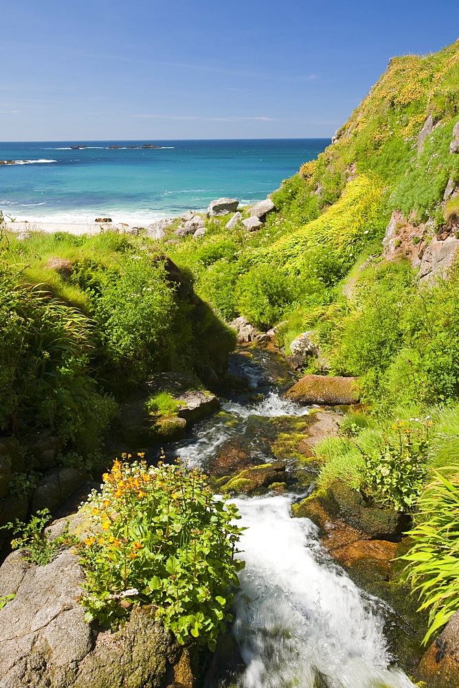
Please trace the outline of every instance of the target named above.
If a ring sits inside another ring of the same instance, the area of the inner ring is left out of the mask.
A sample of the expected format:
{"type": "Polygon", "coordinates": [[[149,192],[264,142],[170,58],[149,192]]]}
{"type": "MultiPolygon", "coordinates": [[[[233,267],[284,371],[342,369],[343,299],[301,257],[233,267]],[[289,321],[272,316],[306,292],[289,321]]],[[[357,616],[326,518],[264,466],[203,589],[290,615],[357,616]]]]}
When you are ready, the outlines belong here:
{"type": "Polygon", "coordinates": [[[0,597],[16,595],[0,609],[1,688],[164,688],[172,680],[192,688],[185,652],[153,610],[134,608],[120,630],[96,632],[78,604],[78,557],[65,550],[36,566],[22,555],[0,568],[0,597]]]}

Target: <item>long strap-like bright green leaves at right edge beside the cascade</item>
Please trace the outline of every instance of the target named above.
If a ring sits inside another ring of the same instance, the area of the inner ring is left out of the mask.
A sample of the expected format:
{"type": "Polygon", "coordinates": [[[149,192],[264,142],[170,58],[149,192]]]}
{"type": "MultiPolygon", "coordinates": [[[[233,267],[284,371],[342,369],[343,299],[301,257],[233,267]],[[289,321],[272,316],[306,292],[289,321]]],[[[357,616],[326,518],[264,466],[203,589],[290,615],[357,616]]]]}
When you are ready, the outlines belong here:
{"type": "Polygon", "coordinates": [[[409,535],[414,544],[401,559],[407,561],[405,580],[414,585],[429,609],[427,643],[459,610],[459,466],[434,471],[418,502],[416,524],[409,535]]]}

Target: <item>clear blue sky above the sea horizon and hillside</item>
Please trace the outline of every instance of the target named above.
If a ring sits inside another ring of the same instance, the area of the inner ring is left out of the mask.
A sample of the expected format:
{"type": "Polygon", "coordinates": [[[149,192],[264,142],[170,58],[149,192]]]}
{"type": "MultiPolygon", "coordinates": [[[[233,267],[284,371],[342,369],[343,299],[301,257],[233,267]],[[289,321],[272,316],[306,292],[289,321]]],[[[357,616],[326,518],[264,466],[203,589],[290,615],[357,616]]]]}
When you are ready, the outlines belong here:
{"type": "Polygon", "coordinates": [[[3,3],[0,140],[315,138],[457,0],[3,3]]]}

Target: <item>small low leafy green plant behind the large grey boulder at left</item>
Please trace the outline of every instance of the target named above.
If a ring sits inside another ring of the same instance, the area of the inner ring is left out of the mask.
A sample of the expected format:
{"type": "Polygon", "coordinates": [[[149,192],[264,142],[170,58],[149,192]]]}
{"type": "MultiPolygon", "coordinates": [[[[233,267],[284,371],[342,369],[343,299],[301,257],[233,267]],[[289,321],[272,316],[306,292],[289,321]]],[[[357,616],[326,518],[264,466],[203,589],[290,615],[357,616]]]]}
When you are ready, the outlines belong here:
{"type": "Polygon", "coordinates": [[[19,535],[11,541],[14,550],[25,548],[24,559],[33,561],[38,566],[45,566],[54,559],[58,551],[64,547],[69,547],[76,543],[76,539],[69,535],[68,528],[63,535],[59,535],[54,540],[50,540],[43,528],[49,523],[51,514],[49,510],[42,509],[37,511],[25,524],[16,519],[14,523],[7,523],[0,526],[0,530],[12,530],[14,535],[19,535]]]}

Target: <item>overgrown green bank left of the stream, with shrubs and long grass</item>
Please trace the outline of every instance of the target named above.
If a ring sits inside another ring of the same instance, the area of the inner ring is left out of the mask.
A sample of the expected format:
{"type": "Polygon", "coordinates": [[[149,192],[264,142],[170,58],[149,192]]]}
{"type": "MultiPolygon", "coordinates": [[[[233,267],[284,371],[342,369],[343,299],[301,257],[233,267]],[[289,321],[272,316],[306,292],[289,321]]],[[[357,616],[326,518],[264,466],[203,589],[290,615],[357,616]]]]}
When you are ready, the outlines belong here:
{"type": "MultiPolygon", "coordinates": [[[[150,372],[225,372],[234,334],[152,241],[115,233],[19,241],[2,217],[0,226],[5,436],[26,447],[30,436],[51,433],[55,464],[78,456],[91,469],[104,464],[117,401],[150,372]]],[[[14,477],[12,492],[24,480],[14,477]]]]}

